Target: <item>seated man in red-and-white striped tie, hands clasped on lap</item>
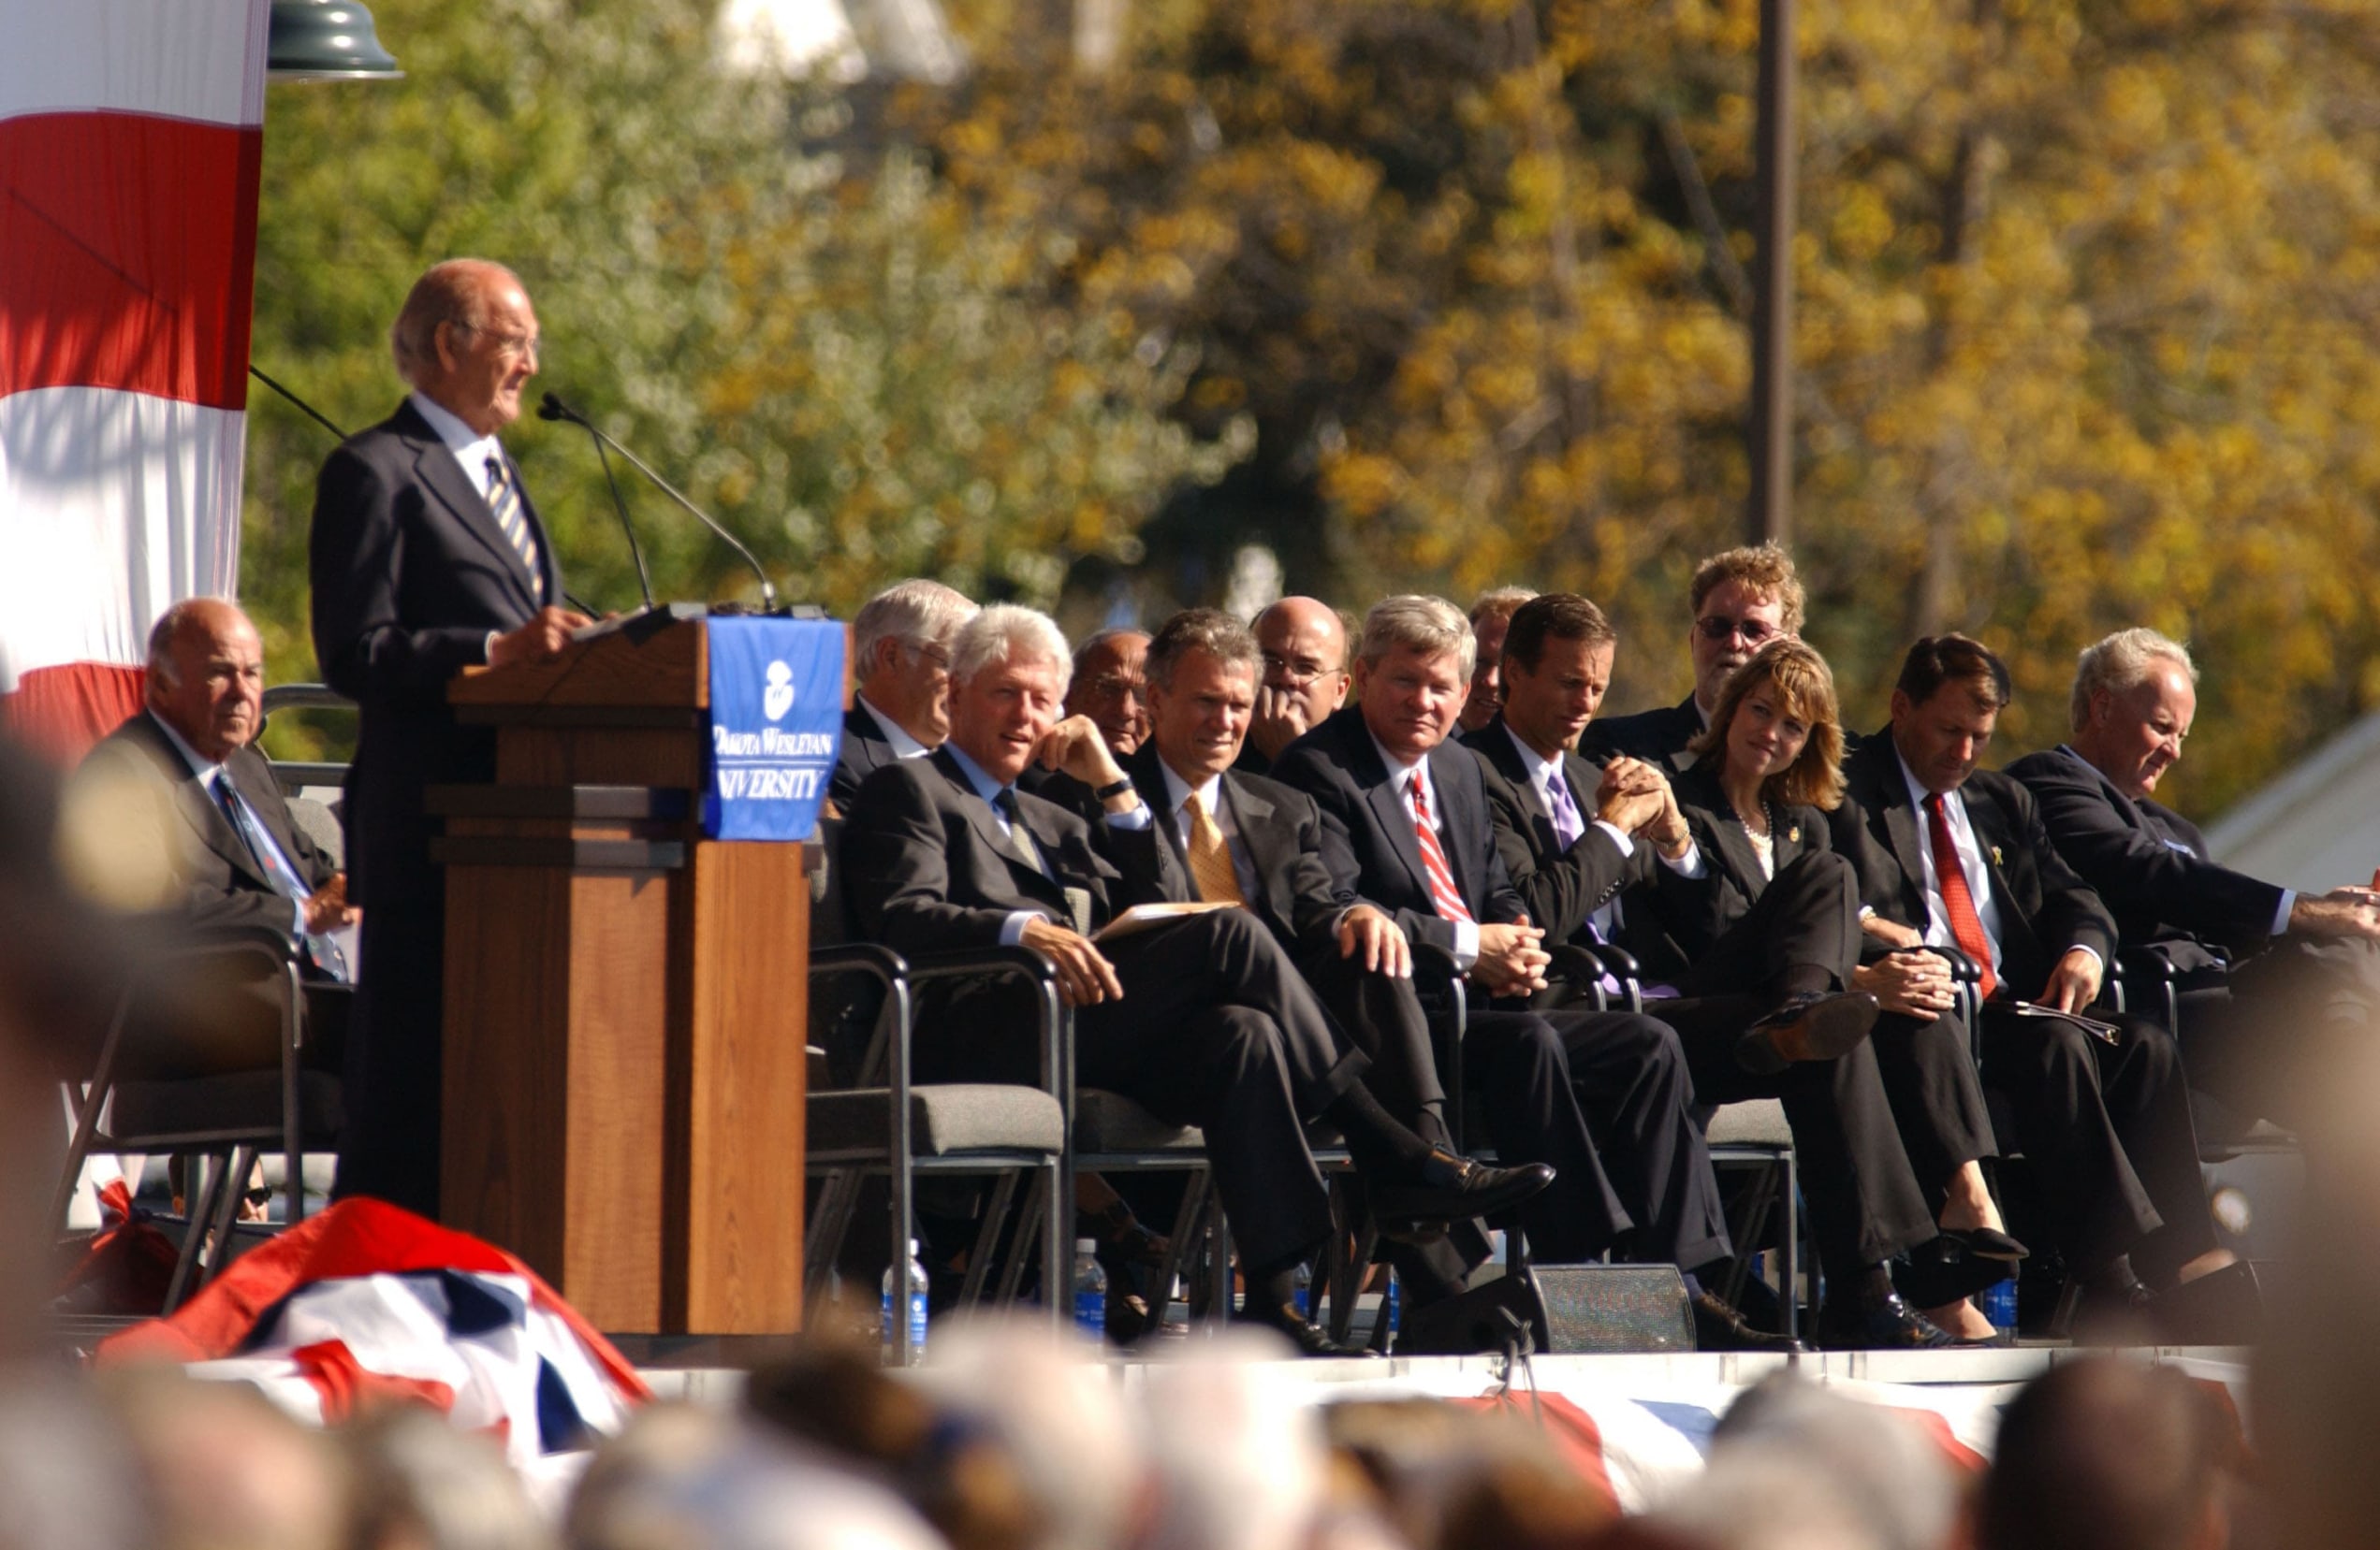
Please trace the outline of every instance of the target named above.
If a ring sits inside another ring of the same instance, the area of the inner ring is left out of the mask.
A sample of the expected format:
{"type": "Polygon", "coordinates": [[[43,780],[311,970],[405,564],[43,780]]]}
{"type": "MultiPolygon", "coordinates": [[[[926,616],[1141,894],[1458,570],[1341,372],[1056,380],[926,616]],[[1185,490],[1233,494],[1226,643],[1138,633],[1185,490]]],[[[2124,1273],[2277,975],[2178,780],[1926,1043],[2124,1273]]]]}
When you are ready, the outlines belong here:
{"type": "Polygon", "coordinates": [[[1471,623],[1445,599],[1376,604],[1357,701],[1290,744],[1273,777],[1321,808],[1340,889],[1468,975],[1480,1013],[1464,1037],[1464,1079],[1488,1134],[1504,1158],[1561,1170],[1552,1201],[1526,1215],[1537,1255],[1618,1248],[1692,1274],[1728,1258],[1728,1229],[1687,1115],[1695,1084],[1678,1037],[1630,1013],[1523,1010],[1545,989],[1542,932],[1497,856],[1480,765],[1447,742],[1471,649],[1471,623]]]}

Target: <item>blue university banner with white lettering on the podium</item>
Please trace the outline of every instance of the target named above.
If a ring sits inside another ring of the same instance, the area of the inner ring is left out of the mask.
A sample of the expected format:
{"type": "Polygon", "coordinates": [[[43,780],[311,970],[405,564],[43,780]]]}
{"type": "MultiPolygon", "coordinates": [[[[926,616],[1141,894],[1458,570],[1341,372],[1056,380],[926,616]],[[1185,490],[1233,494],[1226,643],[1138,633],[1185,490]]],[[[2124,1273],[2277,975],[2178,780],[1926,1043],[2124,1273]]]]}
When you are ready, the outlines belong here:
{"type": "Polygon", "coordinates": [[[712,656],[712,839],[809,839],[843,751],[843,625],[831,618],[707,618],[712,656]]]}

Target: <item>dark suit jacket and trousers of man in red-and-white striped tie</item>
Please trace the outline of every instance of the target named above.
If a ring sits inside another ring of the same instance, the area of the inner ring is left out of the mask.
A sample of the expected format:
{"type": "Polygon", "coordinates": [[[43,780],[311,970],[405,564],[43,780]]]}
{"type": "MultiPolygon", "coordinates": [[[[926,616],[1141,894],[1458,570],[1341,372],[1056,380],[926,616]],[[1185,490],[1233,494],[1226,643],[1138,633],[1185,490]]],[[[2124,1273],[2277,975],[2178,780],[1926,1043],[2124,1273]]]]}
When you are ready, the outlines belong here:
{"type": "MultiPolygon", "coordinates": [[[[1478,756],[1442,742],[1428,770],[1433,820],[1471,918],[1518,920],[1528,901],[1497,853],[1478,756]]],[[[1454,922],[1430,901],[1414,820],[1359,704],[1283,749],[1273,777],[1321,811],[1321,853],[1340,889],[1378,903],[1414,941],[1454,951],[1454,922]]],[[[1695,1084],[1666,1025],[1630,1013],[1480,1013],[1464,1075],[1497,1151],[1559,1174],[1526,1210],[1542,1258],[1606,1248],[1630,1222],[1645,1258],[1692,1269],[1728,1253],[1709,1151],[1687,1113],[1695,1084]]]]}

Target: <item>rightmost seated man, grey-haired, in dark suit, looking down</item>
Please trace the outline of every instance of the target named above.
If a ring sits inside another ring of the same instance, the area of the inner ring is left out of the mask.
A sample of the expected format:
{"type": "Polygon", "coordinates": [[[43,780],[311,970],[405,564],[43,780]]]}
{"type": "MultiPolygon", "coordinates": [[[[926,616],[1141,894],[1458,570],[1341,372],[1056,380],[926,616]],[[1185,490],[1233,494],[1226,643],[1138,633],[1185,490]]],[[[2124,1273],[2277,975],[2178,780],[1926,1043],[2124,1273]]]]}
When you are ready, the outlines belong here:
{"type": "Polygon", "coordinates": [[[2182,756],[2197,680],[2180,642],[2109,635],[2075,668],[2073,739],[2009,775],[2042,804],[2049,842],[2106,901],[2123,944],[2156,946],[2180,970],[2173,1032],[2192,1079],[2242,1120],[2294,1122],[2301,1084],[2335,1070],[2335,1041],[2373,1034],[2380,894],[2299,894],[2221,868],[2197,825],[2149,796],[2182,756]]]}

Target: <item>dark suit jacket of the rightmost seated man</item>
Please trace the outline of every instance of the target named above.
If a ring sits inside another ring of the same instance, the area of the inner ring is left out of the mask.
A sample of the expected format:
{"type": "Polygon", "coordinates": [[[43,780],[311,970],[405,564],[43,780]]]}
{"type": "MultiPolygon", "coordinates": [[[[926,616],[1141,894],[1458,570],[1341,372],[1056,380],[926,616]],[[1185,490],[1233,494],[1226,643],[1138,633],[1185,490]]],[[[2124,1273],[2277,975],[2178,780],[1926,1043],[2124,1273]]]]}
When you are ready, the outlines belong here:
{"type": "Polygon", "coordinates": [[[2128,944],[2163,944],[2182,970],[2211,968],[2204,941],[2235,958],[2273,934],[2280,889],[2206,858],[2197,825],[2147,796],[2132,799],[2073,749],[2009,765],[2042,811],[2049,842],[2116,918],[2128,944]]]}

